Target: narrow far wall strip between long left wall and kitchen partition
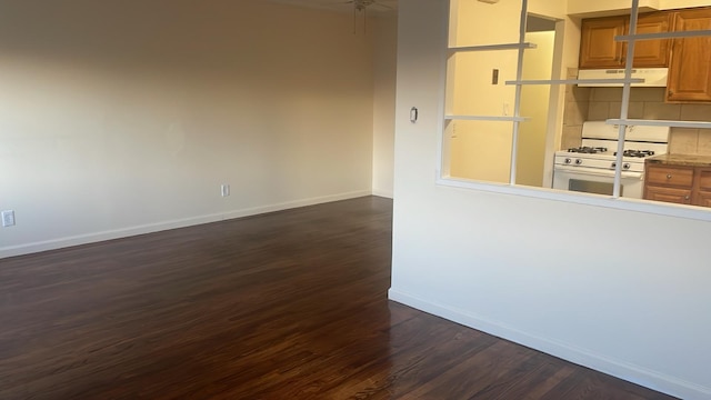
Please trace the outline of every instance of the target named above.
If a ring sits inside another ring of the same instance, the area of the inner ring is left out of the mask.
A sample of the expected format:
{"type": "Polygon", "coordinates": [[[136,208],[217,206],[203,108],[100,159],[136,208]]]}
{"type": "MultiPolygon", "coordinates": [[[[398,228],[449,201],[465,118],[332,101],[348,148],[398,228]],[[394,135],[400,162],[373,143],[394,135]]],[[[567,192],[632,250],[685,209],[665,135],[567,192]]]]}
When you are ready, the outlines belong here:
{"type": "Polygon", "coordinates": [[[373,194],[392,198],[398,14],[374,18],[373,194]]]}

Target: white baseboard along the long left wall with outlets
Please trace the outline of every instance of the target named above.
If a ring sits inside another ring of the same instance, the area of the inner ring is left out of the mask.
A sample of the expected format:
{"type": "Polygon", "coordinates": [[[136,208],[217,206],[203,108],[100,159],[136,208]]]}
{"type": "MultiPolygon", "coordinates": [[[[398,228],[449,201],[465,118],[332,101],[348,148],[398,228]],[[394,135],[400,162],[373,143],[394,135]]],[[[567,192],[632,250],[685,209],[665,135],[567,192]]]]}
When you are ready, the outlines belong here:
{"type": "Polygon", "coordinates": [[[371,194],[372,192],[370,190],[359,190],[359,191],[352,191],[352,192],[346,192],[346,193],[339,193],[339,194],[322,196],[322,197],[316,197],[316,198],[309,198],[309,199],[300,199],[300,200],[286,201],[286,202],[260,206],[260,207],[246,208],[240,210],[232,210],[232,211],[220,212],[220,213],[212,213],[207,216],[188,217],[188,218],[161,221],[156,223],[147,223],[141,226],[126,227],[126,228],[119,228],[119,229],[100,231],[100,232],[77,234],[71,237],[30,242],[30,243],[24,243],[19,246],[0,247],[0,259],[7,258],[7,257],[30,254],[30,253],[36,253],[36,252],[47,251],[47,250],[61,249],[61,248],[71,247],[71,246],[79,246],[79,244],[94,243],[94,242],[104,241],[104,240],[126,238],[126,237],[131,237],[137,234],[152,233],[152,232],[158,232],[158,231],[163,231],[169,229],[191,227],[191,226],[197,226],[201,223],[210,223],[210,222],[217,222],[217,221],[222,221],[228,219],[256,216],[264,212],[281,211],[281,210],[287,210],[287,209],[292,209],[298,207],[306,207],[306,206],[320,204],[320,203],[326,203],[331,201],[354,199],[358,197],[371,196],[371,194]]]}

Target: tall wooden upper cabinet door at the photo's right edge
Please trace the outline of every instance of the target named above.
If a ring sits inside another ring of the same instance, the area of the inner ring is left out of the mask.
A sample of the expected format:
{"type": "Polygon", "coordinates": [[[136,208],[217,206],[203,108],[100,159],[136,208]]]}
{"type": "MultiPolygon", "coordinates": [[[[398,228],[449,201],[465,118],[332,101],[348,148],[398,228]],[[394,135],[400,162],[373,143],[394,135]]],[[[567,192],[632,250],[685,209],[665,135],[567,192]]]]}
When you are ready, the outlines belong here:
{"type": "MultiPolygon", "coordinates": [[[[711,9],[678,11],[674,30],[711,29],[711,9]]],[[[668,101],[711,101],[711,37],[673,41],[669,64],[668,101]]]]}

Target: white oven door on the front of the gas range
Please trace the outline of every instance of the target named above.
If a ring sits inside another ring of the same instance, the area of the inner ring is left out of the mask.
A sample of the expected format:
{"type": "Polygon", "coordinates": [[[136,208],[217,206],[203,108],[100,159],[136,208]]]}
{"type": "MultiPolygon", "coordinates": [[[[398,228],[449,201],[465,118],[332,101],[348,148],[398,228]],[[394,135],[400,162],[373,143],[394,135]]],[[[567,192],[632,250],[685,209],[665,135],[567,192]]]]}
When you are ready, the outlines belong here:
{"type": "MultiPolygon", "coordinates": [[[[643,178],[643,172],[622,171],[620,196],[641,199],[643,178]]],[[[614,170],[557,164],[553,169],[553,189],[612,196],[614,170]]]]}

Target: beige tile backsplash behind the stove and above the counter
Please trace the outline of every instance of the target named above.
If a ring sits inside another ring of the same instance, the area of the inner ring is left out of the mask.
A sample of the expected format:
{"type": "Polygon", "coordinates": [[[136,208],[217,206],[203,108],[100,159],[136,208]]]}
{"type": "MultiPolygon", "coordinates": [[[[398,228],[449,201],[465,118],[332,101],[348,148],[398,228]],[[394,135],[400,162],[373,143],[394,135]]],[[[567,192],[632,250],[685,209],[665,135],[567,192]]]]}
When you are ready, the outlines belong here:
{"type": "MultiPolygon", "coordinates": [[[[575,72],[574,69],[571,69],[569,74],[575,72]]],[[[580,146],[582,131],[582,123],[578,124],[580,116],[590,121],[620,118],[621,100],[622,88],[569,86],[565,91],[561,148],[580,146]],[[580,110],[585,108],[587,110],[580,110]]],[[[711,121],[711,104],[665,103],[664,88],[632,88],[628,116],[633,119],[711,121]]],[[[711,130],[672,128],[669,138],[669,152],[711,156],[711,130]]]]}

